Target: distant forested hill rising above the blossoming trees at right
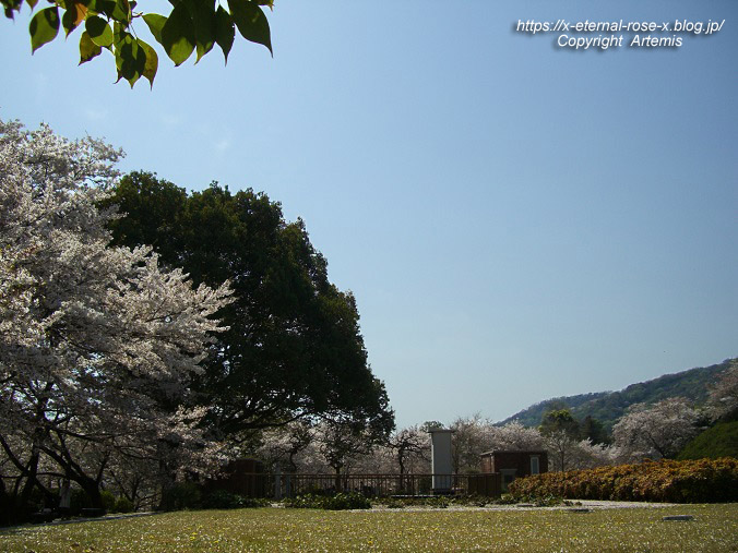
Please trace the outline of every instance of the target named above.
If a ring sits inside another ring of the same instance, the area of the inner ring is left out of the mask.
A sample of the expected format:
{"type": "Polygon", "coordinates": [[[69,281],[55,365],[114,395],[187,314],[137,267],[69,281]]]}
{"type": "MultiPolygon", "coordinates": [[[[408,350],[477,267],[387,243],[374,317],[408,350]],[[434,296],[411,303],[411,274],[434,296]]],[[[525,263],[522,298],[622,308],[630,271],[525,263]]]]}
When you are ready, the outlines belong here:
{"type": "Polygon", "coordinates": [[[620,392],[598,392],[547,399],[524,409],[499,424],[519,420],[526,426],[537,426],[549,409],[568,407],[576,419],[587,414],[599,420],[609,432],[616,421],[633,404],[653,404],[669,397],[686,397],[700,404],[707,397],[709,386],[718,373],[728,369],[730,360],[711,366],[700,366],[675,374],[665,374],[653,381],[631,384],[620,392]]]}

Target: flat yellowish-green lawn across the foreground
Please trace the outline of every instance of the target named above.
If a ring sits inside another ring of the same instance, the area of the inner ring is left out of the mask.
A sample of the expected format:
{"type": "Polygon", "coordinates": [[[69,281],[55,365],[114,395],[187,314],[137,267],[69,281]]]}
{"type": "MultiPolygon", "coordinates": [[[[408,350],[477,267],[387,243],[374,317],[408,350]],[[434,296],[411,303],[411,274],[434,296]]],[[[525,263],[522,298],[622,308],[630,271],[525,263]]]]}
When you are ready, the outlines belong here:
{"type": "Polygon", "coordinates": [[[738,551],[738,504],[563,510],[240,509],[0,531],[0,551],[738,551]],[[690,514],[693,521],[662,521],[690,514]]]}

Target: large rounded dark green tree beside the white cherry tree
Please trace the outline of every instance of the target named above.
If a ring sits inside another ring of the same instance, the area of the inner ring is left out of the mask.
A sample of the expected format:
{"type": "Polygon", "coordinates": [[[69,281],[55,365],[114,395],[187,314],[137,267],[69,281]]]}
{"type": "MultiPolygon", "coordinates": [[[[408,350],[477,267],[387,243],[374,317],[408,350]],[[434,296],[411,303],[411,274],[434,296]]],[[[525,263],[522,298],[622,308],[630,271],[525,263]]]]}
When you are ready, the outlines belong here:
{"type": "Polygon", "coordinates": [[[214,432],[317,417],[392,430],[354,297],[329,281],[301,220],[286,223],[263,193],[213,183],[188,194],[146,172],[123,178],[108,202],[126,214],[111,226],[116,243],[153,245],[195,285],[230,280],[236,301],[222,312],[229,329],[197,383],[214,432]]]}

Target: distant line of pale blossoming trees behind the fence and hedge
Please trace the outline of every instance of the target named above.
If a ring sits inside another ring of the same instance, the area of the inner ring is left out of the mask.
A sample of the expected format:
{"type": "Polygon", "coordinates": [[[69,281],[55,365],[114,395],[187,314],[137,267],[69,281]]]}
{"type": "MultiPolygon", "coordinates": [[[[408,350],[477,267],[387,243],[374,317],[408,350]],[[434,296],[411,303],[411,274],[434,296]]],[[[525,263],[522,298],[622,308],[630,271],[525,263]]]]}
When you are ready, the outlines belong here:
{"type": "MultiPolygon", "coordinates": [[[[341,468],[353,472],[428,473],[428,430],[438,426],[444,425],[428,421],[400,429],[373,448],[346,448],[341,468]]],[[[645,459],[736,457],[738,363],[734,361],[718,374],[701,406],[679,397],[636,404],[617,420],[611,434],[591,416],[576,419],[564,404],[555,404],[535,426],[519,421],[495,423],[476,413],[459,417],[448,428],[454,431],[452,460],[459,473],[478,472],[480,455],[489,450],[547,450],[552,471],[645,459]]],[[[270,466],[293,472],[329,473],[335,469],[325,455],[331,447],[330,434],[320,429],[274,429],[261,438],[257,454],[270,466]]]]}

